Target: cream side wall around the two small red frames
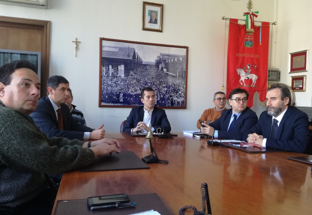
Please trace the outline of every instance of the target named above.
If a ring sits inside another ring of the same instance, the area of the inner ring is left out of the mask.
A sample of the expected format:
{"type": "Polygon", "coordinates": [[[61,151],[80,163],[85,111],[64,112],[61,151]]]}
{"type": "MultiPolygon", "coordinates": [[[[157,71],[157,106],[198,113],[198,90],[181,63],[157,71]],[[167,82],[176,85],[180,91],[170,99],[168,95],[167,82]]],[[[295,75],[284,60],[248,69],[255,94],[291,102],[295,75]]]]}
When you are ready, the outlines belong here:
{"type": "Polygon", "coordinates": [[[289,53],[310,50],[309,67],[312,66],[312,1],[283,0],[278,4],[277,68],[281,70],[281,83],[290,85],[290,76],[307,75],[306,92],[295,92],[295,105],[311,107],[312,71],[288,74],[289,53]]]}

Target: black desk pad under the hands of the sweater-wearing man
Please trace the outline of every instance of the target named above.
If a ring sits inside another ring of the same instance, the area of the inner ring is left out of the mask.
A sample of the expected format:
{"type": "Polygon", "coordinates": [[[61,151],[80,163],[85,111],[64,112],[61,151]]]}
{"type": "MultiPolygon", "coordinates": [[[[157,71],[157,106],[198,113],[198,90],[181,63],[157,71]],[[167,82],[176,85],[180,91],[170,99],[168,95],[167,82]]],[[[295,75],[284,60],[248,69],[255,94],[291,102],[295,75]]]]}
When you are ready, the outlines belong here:
{"type": "Polygon", "coordinates": [[[94,161],[81,168],[81,172],[106,171],[106,170],[136,170],[149,169],[133,151],[121,151],[119,154],[113,152],[113,155],[96,157],[94,161]]]}

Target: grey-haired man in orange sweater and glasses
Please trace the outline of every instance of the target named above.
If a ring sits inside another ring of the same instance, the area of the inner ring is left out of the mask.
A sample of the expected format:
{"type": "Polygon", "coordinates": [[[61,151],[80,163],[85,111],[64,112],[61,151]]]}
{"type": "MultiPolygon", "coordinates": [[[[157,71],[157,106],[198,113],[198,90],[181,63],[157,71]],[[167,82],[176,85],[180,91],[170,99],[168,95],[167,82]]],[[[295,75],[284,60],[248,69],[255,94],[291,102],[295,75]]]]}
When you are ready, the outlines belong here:
{"type": "MultiPolygon", "coordinates": [[[[202,116],[199,118],[199,120],[203,121],[205,123],[208,120],[210,120],[210,123],[211,123],[211,122],[215,121],[217,118],[219,118],[221,116],[222,111],[227,110],[227,108],[225,108],[226,99],[227,99],[227,97],[225,96],[225,93],[223,93],[221,91],[216,92],[213,95],[213,103],[215,104],[215,107],[205,110],[202,113],[202,116]]],[[[197,128],[201,127],[199,120],[197,120],[197,128]]]]}

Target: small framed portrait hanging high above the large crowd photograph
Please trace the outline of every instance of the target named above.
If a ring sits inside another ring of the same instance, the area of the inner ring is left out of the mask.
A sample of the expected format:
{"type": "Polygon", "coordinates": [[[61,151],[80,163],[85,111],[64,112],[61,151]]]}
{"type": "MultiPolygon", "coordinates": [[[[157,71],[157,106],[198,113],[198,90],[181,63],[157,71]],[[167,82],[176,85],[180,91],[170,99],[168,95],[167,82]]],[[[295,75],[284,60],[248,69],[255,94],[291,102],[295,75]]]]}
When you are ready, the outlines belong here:
{"type": "Polygon", "coordinates": [[[143,2],[142,30],[163,32],[163,4],[143,2]]]}

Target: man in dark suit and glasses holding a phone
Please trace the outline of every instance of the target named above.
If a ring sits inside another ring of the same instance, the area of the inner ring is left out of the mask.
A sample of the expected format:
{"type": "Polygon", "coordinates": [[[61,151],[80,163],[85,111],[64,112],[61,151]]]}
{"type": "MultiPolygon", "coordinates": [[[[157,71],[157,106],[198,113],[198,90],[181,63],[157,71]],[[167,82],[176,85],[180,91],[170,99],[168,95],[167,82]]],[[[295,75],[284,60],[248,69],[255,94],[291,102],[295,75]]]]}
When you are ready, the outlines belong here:
{"type": "Polygon", "coordinates": [[[251,129],[257,122],[258,117],[249,107],[247,107],[249,93],[245,89],[236,88],[229,94],[231,109],[224,110],[220,118],[209,125],[202,123],[206,127],[201,127],[204,134],[215,138],[225,138],[229,140],[242,140],[242,135],[251,129]]]}

